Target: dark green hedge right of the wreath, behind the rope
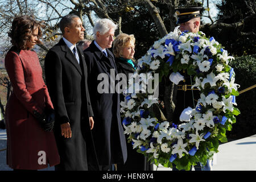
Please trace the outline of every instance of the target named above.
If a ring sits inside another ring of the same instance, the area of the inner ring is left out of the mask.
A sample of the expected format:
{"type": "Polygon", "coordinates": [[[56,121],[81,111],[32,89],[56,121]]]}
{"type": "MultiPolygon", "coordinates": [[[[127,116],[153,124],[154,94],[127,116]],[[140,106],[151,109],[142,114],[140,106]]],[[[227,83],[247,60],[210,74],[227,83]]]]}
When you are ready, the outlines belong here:
{"type": "MultiPolygon", "coordinates": [[[[237,57],[230,63],[236,73],[239,91],[256,84],[256,54],[237,57]]],[[[237,107],[241,111],[232,131],[227,131],[230,138],[244,138],[256,134],[256,88],[241,93],[236,97],[237,107]]]]}

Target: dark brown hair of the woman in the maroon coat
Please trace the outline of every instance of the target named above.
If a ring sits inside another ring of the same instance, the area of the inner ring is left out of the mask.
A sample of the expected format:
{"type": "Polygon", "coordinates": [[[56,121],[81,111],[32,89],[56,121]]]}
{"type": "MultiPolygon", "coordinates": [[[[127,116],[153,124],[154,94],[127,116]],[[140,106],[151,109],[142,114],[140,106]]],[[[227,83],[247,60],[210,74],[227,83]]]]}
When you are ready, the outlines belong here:
{"type": "Polygon", "coordinates": [[[42,24],[31,18],[28,15],[16,16],[11,24],[11,30],[8,32],[11,38],[11,43],[18,49],[26,49],[27,41],[30,41],[30,37],[35,28],[38,28],[38,41],[36,44],[43,44],[39,38],[42,37],[42,24]]]}

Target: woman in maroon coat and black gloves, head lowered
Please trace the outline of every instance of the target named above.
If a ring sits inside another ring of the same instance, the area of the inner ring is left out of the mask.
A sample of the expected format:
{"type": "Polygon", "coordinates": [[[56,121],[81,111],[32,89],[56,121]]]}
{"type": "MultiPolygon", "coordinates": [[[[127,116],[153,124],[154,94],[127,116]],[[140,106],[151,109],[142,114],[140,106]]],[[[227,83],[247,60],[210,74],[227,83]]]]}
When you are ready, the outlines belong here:
{"type": "Polygon", "coordinates": [[[13,169],[36,170],[59,164],[51,131],[54,110],[42,78],[38,56],[31,48],[41,43],[41,24],[27,15],[13,20],[13,47],[5,57],[13,93],[6,105],[7,164],[13,169]],[[49,115],[51,117],[49,117],[49,115]]]}

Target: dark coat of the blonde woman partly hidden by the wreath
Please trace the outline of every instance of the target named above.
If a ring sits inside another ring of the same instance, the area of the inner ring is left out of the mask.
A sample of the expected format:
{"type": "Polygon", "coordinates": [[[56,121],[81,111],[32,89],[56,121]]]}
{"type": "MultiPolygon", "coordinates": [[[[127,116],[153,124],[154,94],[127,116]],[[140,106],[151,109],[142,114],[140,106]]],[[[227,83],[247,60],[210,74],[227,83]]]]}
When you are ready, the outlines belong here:
{"type": "MultiPolygon", "coordinates": [[[[115,58],[115,64],[117,64],[117,71],[118,73],[124,73],[126,77],[129,77],[129,73],[134,73],[134,67],[125,60],[121,60],[115,58]]],[[[135,68],[137,68],[137,63],[133,60],[133,64],[135,68]]],[[[127,80],[128,81],[128,80],[127,80]]],[[[128,82],[127,82],[128,84],[128,82]]],[[[122,94],[121,94],[122,95],[122,94]]],[[[124,101],[125,98],[122,96],[121,101],[124,101]]],[[[128,138],[129,135],[126,135],[128,138]]],[[[154,166],[147,162],[146,156],[143,154],[139,154],[135,149],[133,149],[133,145],[127,142],[127,160],[125,164],[117,165],[118,171],[153,171],[154,166]]]]}

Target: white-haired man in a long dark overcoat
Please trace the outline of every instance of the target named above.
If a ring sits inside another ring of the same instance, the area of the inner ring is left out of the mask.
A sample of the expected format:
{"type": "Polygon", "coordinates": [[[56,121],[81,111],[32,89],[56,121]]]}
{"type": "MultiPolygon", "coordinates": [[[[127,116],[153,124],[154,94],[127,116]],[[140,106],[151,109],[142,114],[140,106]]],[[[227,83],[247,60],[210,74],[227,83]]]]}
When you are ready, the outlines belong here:
{"type": "MultiPolygon", "coordinates": [[[[106,92],[99,86],[103,78],[100,73],[107,76],[106,80],[110,85],[115,85],[117,67],[114,55],[108,48],[112,47],[114,32],[117,26],[109,19],[100,19],[94,25],[94,40],[84,50],[85,61],[88,65],[88,88],[90,101],[94,113],[94,129],[92,130],[93,140],[96,148],[100,170],[108,170],[112,164],[125,163],[127,150],[125,134],[120,119],[119,94],[115,87],[105,88],[106,92]],[[114,78],[110,81],[110,75],[114,78]],[[98,80],[99,79],[99,80],[98,80]],[[113,92],[114,91],[114,92],[113,92]]],[[[102,75],[102,74],[101,74],[102,75]]],[[[107,87],[107,86],[106,86],[107,87]]],[[[95,170],[90,165],[90,170],[95,170]]]]}

